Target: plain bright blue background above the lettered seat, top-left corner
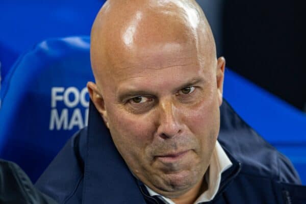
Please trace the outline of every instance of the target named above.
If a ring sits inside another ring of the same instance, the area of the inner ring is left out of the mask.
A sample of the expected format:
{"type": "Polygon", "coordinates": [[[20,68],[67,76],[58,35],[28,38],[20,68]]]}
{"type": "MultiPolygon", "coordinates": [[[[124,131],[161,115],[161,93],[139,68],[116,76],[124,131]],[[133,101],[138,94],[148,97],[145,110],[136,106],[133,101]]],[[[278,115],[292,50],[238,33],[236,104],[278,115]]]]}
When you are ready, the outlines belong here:
{"type": "Polygon", "coordinates": [[[104,3],[105,0],[0,1],[2,79],[34,43],[48,38],[89,35],[104,3]]]}

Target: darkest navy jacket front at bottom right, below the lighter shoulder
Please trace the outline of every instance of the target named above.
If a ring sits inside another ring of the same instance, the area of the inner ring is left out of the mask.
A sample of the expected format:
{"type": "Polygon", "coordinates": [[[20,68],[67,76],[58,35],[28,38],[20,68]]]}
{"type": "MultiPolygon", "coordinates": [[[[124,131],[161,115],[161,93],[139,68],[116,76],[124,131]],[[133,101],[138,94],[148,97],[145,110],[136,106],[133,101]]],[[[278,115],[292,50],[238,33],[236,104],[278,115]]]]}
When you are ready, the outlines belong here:
{"type": "Polygon", "coordinates": [[[305,203],[306,187],[278,182],[263,174],[241,172],[223,188],[216,203],[305,203]],[[223,202],[218,202],[222,200],[223,202]]]}

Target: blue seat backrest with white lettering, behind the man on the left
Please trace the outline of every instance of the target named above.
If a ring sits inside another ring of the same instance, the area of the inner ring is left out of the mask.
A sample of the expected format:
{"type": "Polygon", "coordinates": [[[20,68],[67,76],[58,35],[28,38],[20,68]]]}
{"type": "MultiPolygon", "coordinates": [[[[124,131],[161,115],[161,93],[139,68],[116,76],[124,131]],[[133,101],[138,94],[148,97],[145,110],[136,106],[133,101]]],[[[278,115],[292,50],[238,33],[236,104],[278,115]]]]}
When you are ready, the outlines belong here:
{"type": "Polygon", "coordinates": [[[89,37],[50,39],[13,65],[0,91],[0,158],[36,181],[68,138],[86,125],[93,81],[89,37]]]}

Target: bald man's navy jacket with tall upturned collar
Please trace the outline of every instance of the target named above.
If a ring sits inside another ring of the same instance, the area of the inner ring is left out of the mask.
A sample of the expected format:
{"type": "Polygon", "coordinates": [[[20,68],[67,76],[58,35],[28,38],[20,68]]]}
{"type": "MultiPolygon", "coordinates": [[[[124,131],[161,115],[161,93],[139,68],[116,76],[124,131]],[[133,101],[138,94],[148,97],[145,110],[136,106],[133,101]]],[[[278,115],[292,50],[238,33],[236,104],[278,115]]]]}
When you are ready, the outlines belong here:
{"type": "MultiPolygon", "coordinates": [[[[117,151],[92,103],[88,127],[75,134],[37,182],[60,203],[161,203],[148,195],[117,151]]],[[[224,102],[218,141],[233,166],[208,203],[306,203],[291,162],[224,102]]]]}

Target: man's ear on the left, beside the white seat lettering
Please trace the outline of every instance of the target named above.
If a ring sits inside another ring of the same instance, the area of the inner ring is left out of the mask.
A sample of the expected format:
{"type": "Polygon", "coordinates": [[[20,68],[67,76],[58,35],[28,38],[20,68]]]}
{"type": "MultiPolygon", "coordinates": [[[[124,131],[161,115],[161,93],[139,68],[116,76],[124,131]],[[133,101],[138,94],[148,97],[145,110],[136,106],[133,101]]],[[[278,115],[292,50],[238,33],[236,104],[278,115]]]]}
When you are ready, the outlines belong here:
{"type": "Polygon", "coordinates": [[[102,95],[99,93],[97,85],[93,82],[88,82],[87,89],[89,92],[89,97],[92,100],[92,103],[94,104],[98,112],[100,113],[106,126],[109,128],[108,116],[107,116],[107,111],[105,109],[104,99],[102,95]]]}

